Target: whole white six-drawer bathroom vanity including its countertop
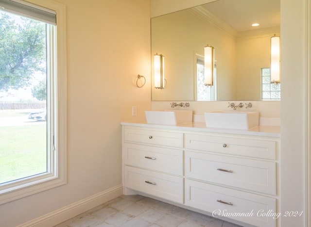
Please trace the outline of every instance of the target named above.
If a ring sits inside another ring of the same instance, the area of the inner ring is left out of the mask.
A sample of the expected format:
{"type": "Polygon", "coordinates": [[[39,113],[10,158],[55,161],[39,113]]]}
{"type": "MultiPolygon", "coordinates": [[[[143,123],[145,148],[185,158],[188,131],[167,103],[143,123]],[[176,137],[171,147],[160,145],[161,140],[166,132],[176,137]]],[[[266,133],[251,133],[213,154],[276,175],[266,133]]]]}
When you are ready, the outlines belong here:
{"type": "Polygon", "coordinates": [[[278,225],[279,127],[121,125],[125,195],[150,195],[210,216],[218,211],[238,224],[278,225]]]}

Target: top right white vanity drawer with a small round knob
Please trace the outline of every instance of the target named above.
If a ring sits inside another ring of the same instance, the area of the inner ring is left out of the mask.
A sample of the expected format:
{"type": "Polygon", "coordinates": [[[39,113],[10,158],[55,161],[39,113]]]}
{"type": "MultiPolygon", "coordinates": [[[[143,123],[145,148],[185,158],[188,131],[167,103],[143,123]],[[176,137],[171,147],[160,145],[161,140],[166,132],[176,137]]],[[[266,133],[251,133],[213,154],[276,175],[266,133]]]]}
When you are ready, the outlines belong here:
{"type": "Polygon", "coordinates": [[[276,141],[185,134],[185,148],[276,160],[276,141]]]}

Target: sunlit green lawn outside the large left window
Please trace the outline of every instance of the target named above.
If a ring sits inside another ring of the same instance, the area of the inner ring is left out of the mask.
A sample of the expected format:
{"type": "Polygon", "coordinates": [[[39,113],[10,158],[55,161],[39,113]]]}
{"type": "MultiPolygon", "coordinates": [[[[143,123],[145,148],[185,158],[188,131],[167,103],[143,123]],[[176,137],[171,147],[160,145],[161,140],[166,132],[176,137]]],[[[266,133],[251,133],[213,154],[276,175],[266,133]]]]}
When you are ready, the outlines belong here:
{"type": "MultiPolygon", "coordinates": [[[[29,112],[0,111],[0,117],[22,114],[29,112]]],[[[46,124],[38,123],[0,126],[0,183],[46,172],[46,124]]]]}

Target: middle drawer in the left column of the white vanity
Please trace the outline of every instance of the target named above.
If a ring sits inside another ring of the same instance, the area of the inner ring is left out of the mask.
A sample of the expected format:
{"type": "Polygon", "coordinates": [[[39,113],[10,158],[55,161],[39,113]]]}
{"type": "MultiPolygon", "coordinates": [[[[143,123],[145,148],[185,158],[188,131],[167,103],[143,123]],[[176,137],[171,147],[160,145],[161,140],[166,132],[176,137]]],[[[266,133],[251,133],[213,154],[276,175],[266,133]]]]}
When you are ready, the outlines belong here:
{"type": "Polygon", "coordinates": [[[183,150],[124,144],[124,164],[183,175],[183,150]]]}

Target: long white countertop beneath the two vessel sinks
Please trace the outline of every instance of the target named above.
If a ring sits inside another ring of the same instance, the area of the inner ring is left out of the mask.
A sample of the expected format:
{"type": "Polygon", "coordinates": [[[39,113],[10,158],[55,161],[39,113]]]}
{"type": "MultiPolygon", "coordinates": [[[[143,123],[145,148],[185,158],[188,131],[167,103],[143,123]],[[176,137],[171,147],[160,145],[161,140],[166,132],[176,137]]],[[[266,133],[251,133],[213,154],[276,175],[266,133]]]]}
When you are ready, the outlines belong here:
{"type": "Polygon", "coordinates": [[[121,122],[121,125],[127,126],[139,126],[145,128],[155,129],[176,129],[176,130],[189,130],[189,131],[202,131],[202,132],[217,132],[217,133],[229,133],[229,134],[242,134],[242,135],[259,135],[259,136],[271,136],[280,137],[281,127],[279,126],[257,126],[248,130],[234,130],[234,129],[219,129],[219,128],[207,128],[205,122],[190,122],[180,125],[158,125],[147,124],[146,122],[121,122]]]}

